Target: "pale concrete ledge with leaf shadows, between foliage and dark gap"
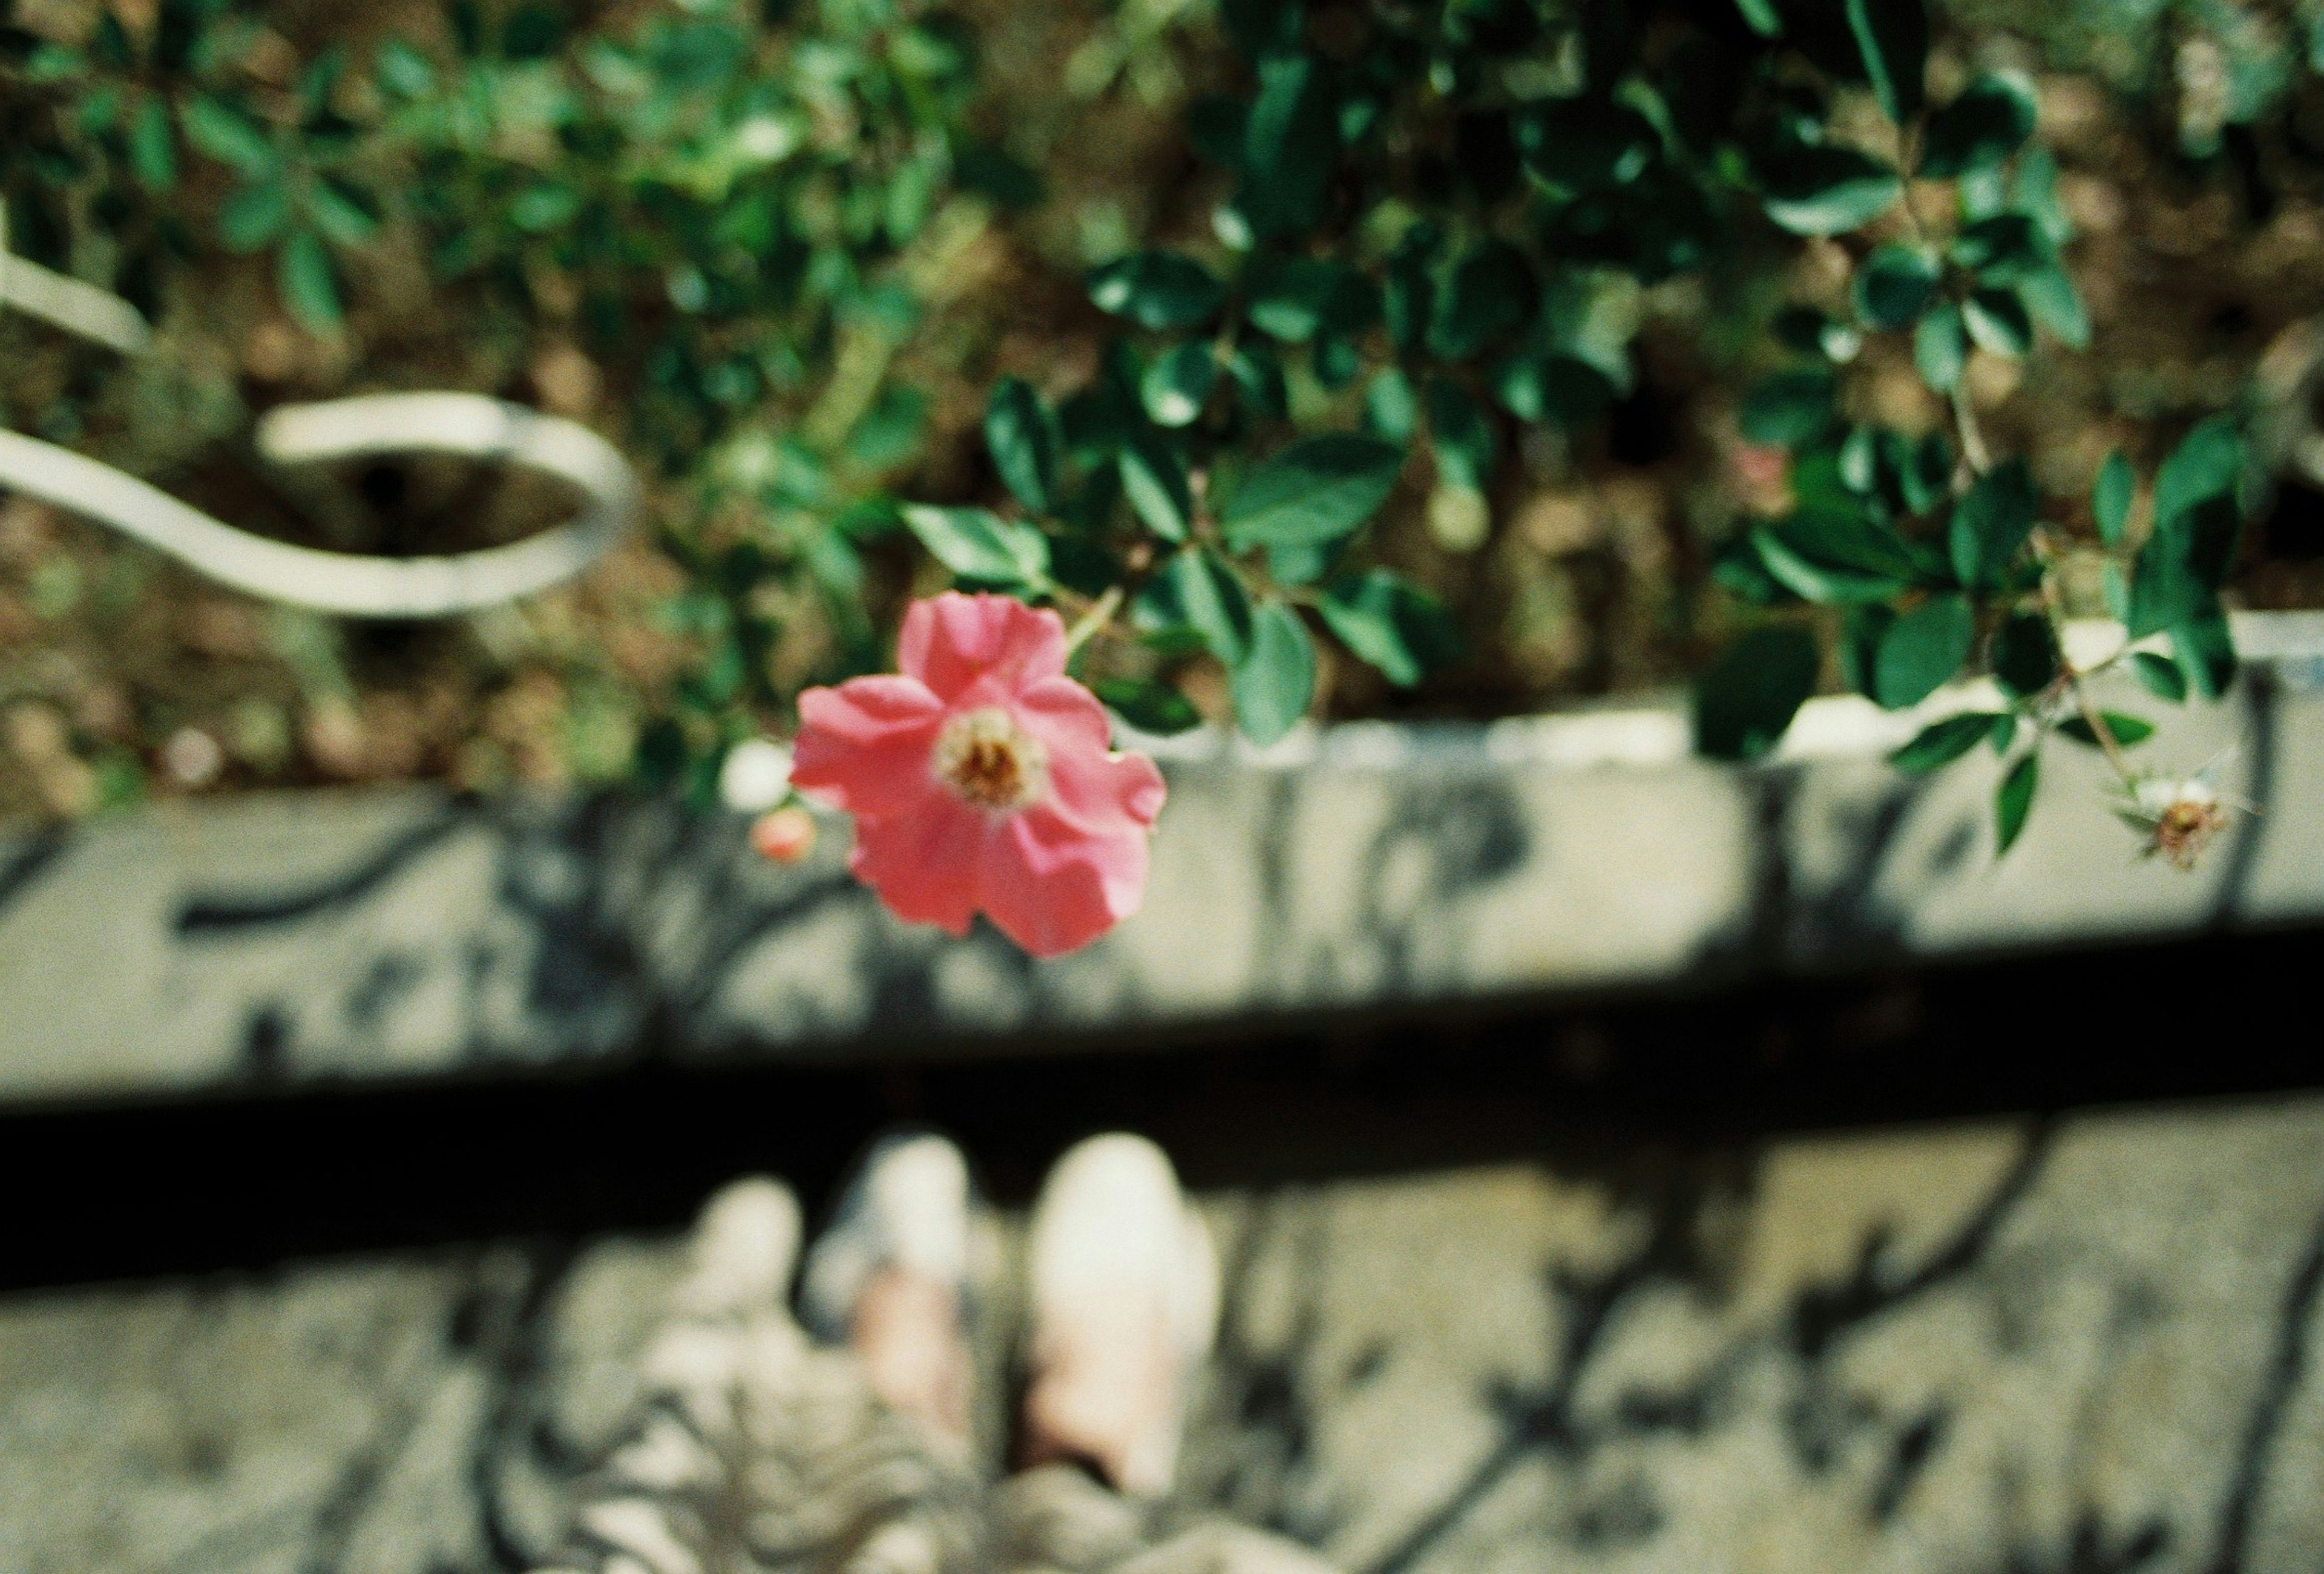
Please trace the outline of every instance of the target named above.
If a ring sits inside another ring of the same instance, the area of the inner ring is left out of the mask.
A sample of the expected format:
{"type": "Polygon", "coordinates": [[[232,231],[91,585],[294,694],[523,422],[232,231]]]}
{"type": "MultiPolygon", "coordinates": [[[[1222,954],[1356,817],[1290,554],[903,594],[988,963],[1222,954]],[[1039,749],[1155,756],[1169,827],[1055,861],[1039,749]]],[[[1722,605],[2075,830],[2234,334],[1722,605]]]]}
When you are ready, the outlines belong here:
{"type": "MultiPolygon", "coordinates": [[[[2238,621],[2224,704],[2140,758],[2261,804],[2201,870],[2136,858],[2096,756],[2052,746],[1992,858],[1996,760],[1817,702],[1769,765],[1685,753],[1676,704],[1332,728],[1164,751],[1146,911],[1034,965],[888,918],[667,804],[428,790],[172,804],[0,837],[0,1100],[669,1056],[946,1056],[1376,1004],[1848,970],[2324,918],[2324,618],[2238,621]]],[[[1934,707],[1959,707],[1941,697],[1934,707]]],[[[2140,704],[2143,702],[2143,704],[2140,704]]]]}

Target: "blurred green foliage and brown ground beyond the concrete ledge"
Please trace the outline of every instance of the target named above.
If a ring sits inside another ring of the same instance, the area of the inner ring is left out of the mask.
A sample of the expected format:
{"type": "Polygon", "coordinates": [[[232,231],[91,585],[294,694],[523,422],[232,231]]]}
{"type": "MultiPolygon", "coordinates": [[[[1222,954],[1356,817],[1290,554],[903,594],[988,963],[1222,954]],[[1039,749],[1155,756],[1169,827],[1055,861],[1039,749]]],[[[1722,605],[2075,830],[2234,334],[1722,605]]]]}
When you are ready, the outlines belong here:
{"type": "MultiPolygon", "coordinates": [[[[1260,604],[1304,598],[1329,635],[1304,709],[1690,681],[1764,616],[1734,542],[1792,505],[1794,453],[1945,423],[1910,342],[1857,330],[1850,226],[1769,223],[1766,165],[1734,151],[1785,114],[1878,144],[1878,84],[1820,65],[1841,9],[1350,0],[1308,7],[1292,53],[1283,16],[16,0],[7,244],[121,291],[158,344],[121,360],[0,316],[7,425],[284,539],[432,553],[565,500],[451,460],[274,472],[251,418],[474,388],[609,435],[651,528],[518,607],[337,623],[0,502],[0,811],[414,777],[706,797],[727,744],[885,665],[904,598],[953,579],[902,502],[1055,514],[1062,586],[1167,591],[1153,537],[1255,430],[1427,453],[1346,591],[1301,591],[1327,565],[1281,542],[1253,556],[1260,604]],[[1262,179],[1262,142],[1313,181],[1262,179]],[[1164,251],[1202,281],[1139,260],[1164,251]],[[1801,356],[1831,367],[1806,416],[1801,356]]],[[[2038,109],[2010,200],[2045,216],[2080,332],[1964,339],[1959,384],[2040,495],[2087,498],[2115,449],[2152,470],[2324,309],[2319,70],[2310,5],[1936,12],[1931,91],[2003,72],[2038,109]]],[[[2226,598],[2324,604],[2324,498],[2275,493],[2226,598]]],[[[1241,700],[1250,728],[1267,697],[1220,644],[1248,607],[1206,642],[1199,607],[1141,602],[1136,649],[1097,651],[1109,697],[1155,725],[1241,700]]],[[[1852,681],[1845,651],[1817,660],[1852,681]]]]}

